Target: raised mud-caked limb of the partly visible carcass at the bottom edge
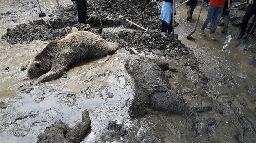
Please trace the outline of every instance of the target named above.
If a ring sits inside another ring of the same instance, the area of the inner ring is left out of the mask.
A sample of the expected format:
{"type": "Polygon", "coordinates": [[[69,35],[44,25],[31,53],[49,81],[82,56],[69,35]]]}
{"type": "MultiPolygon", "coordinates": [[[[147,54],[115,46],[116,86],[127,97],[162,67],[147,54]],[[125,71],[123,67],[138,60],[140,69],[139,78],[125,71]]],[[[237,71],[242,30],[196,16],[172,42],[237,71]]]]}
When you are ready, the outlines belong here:
{"type": "Polygon", "coordinates": [[[82,111],[82,122],[77,123],[73,128],[68,129],[65,135],[70,143],[80,143],[85,137],[87,130],[91,126],[91,120],[88,111],[82,111]]]}

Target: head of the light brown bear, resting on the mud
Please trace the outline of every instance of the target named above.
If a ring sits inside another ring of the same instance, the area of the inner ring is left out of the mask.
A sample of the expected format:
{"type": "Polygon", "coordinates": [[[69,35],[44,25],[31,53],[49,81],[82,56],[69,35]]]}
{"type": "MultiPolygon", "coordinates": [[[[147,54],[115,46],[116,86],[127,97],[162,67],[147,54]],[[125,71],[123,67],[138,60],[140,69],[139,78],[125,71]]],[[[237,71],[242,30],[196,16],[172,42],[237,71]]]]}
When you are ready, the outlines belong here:
{"type": "Polygon", "coordinates": [[[33,59],[28,64],[27,77],[29,79],[41,76],[43,74],[46,74],[47,72],[48,71],[46,70],[44,64],[41,61],[33,59]]]}

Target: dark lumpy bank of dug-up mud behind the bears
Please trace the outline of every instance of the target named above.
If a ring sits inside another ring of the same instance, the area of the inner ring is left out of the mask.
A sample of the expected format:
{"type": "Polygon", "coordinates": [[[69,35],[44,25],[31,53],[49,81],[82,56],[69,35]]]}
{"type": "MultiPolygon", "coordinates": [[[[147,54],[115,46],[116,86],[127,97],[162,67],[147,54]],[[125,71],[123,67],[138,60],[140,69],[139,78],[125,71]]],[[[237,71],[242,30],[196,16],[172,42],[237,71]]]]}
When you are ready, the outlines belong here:
{"type": "MultiPolygon", "coordinates": [[[[85,30],[100,35],[107,41],[118,42],[123,48],[135,48],[138,52],[144,51],[158,56],[164,56],[166,59],[184,59],[192,58],[186,66],[191,66],[199,74],[196,58],[193,52],[185,46],[180,40],[170,37],[168,34],[161,33],[159,27],[161,22],[158,20],[161,11],[158,10],[156,2],[148,0],[118,0],[118,1],[99,1],[94,2],[95,7],[101,17],[103,27],[130,28],[131,30],[119,30],[117,32],[102,31],[96,29],[100,26],[100,21],[90,5],[87,8],[88,24],[77,23],[76,2],[73,5],[61,6],[61,11],[65,20],[67,30],[76,27],[78,30],[85,30]],[[138,25],[148,29],[147,32],[141,31],[138,27],[131,25],[125,20],[129,19],[138,25]],[[147,20],[145,20],[147,19],[147,20]],[[156,29],[156,30],[150,30],[156,29]]],[[[54,40],[64,38],[67,34],[63,28],[61,16],[55,8],[47,19],[30,21],[29,23],[17,25],[15,28],[7,29],[2,39],[11,44],[22,42],[31,42],[33,40],[54,40]]],[[[176,23],[178,25],[178,23],[176,23]]],[[[207,79],[206,79],[207,81],[207,79]]]]}

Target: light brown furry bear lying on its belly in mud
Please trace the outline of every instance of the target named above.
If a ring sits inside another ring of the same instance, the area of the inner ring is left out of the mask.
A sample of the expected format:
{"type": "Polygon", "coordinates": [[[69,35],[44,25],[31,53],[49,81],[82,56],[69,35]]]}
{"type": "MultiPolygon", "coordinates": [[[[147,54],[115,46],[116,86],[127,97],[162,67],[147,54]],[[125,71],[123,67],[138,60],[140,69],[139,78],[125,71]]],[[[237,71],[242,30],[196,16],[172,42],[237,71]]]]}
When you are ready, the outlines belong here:
{"type": "Polygon", "coordinates": [[[96,34],[77,31],[61,40],[50,41],[30,63],[22,65],[21,70],[27,69],[29,79],[40,76],[32,84],[47,82],[63,76],[74,63],[111,54],[118,48],[118,44],[110,44],[96,34]]]}

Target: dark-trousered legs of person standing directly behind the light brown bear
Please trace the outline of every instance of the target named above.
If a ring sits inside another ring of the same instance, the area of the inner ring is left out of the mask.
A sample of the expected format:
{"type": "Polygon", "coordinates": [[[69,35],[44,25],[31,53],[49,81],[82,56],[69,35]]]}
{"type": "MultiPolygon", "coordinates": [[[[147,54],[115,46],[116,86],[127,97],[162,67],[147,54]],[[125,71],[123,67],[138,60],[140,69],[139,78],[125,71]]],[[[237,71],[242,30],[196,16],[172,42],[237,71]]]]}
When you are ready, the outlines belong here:
{"type": "Polygon", "coordinates": [[[77,9],[78,9],[78,22],[85,23],[86,18],[86,2],[85,0],[77,0],[77,9]]]}

